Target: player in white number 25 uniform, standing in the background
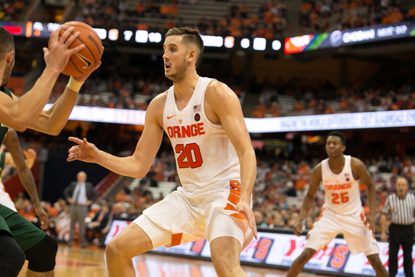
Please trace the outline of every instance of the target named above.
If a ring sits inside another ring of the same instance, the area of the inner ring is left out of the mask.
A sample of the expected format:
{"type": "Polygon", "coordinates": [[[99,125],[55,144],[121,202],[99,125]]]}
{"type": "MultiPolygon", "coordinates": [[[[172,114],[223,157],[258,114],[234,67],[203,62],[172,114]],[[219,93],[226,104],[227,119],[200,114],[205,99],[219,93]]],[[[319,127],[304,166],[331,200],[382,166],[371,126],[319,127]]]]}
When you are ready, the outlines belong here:
{"type": "Polygon", "coordinates": [[[302,233],[302,222],[314,204],[320,184],[324,187],[325,202],[320,216],[307,234],[304,251],[289,268],[287,277],[297,276],[316,251],[324,249],[338,233],[343,233],[350,253],[363,252],[376,275],[387,277],[372,233],[375,229],[376,190],[370,173],[361,160],[343,154],[346,137],[341,132],[330,132],[325,148],[328,158],[313,169],[300,217],[294,225],[294,234],[299,236],[302,233]],[[368,223],[360,200],[358,180],[367,187],[368,223]]]}

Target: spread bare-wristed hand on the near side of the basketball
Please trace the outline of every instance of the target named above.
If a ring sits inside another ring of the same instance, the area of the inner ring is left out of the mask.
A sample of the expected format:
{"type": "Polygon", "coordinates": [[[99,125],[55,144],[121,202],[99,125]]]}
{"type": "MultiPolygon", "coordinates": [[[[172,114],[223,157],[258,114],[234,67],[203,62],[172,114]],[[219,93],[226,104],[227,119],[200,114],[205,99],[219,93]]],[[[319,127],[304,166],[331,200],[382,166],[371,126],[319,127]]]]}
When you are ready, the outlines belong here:
{"type": "Polygon", "coordinates": [[[69,48],[69,46],[75,41],[75,39],[79,36],[79,32],[75,32],[71,35],[72,31],[74,30],[73,27],[69,27],[64,34],[58,39],[58,34],[60,33],[60,29],[63,26],[60,26],[57,30],[55,30],[52,34],[52,41],[50,43],[49,48],[44,47],[44,58],[46,62],[46,66],[50,66],[57,70],[58,72],[62,72],[66,64],[69,61],[69,57],[79,52],[80,50],[85,48],[85,44],[78,45],[74,48],[69,48]]]}

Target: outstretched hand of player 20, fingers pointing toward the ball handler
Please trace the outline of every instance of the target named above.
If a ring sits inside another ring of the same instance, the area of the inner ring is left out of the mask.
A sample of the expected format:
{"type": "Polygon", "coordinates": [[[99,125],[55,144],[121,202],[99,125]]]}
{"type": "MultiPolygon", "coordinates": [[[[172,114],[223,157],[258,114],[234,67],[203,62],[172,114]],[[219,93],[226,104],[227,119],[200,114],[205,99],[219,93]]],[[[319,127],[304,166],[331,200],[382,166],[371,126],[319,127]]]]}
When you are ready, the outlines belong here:
{"type": "Polygon", "coordinates": [[[68,140],[77,143],[68,150],[68,162],[79,160],[87,163],[96,163],[99,150],[94,144],[87,142],[87,139],[80,140],[77,137],[70,136],[68,140]]]}

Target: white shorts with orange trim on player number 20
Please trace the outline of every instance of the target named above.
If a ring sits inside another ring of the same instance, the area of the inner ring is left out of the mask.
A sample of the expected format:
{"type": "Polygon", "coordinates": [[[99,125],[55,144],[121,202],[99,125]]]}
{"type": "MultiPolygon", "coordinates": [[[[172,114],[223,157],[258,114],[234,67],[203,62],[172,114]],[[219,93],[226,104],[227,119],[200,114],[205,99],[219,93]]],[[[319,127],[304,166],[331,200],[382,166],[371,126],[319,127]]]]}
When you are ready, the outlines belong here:
{"type": "Polygon", "coordinates": [[[144,210],[133,223],[149,235],[154,248],[231,236],[244,249],[254,235],[236,209],[238,201],[239,191],[232,188],[197,195],[179,188],[144,210]]]}

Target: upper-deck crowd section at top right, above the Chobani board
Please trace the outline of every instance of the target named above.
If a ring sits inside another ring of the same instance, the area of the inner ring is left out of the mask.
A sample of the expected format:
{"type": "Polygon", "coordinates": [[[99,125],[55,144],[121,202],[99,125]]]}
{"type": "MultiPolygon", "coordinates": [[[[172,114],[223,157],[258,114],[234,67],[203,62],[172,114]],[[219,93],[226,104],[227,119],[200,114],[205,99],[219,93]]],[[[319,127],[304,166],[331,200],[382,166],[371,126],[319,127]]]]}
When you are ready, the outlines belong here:
{"type": "Polygon", "coordinates": [[[414,19],[415,6],[397,6],[393,0],[303,0],[302,34],[359,28],[414,19]]]}

